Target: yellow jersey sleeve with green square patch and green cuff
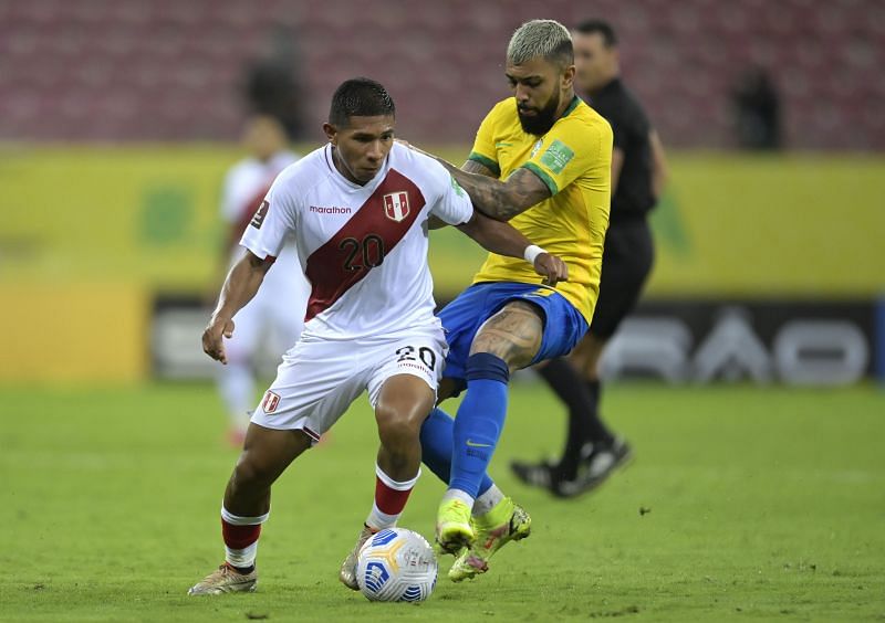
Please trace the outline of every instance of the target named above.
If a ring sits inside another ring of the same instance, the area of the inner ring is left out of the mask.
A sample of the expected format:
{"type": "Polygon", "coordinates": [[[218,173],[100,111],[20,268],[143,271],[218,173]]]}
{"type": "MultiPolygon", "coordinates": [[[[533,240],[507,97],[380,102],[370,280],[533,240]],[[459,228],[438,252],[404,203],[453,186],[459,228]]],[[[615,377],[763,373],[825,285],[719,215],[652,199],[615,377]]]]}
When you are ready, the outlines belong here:
{"type": "Polygon", "coordinates": [[[611,155],[608,124],[587,124],[574,117],[556,124],[544,136],[534,156],[522,166],[541,178],[554,196],[587,171],[601,166],[611,169],[611,155]]]}

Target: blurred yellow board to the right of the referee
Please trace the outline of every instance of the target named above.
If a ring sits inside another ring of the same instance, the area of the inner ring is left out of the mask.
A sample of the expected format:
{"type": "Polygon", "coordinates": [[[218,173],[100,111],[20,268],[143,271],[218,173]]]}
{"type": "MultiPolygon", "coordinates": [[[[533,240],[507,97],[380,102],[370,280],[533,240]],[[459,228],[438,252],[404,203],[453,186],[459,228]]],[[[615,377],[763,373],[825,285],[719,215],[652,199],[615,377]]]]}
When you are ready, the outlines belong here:
{"type": "Polygon", "coordinates": [[[650,295],[885,293],[883,158],[674,158],[653,224],[659,252],[650,295]]]}

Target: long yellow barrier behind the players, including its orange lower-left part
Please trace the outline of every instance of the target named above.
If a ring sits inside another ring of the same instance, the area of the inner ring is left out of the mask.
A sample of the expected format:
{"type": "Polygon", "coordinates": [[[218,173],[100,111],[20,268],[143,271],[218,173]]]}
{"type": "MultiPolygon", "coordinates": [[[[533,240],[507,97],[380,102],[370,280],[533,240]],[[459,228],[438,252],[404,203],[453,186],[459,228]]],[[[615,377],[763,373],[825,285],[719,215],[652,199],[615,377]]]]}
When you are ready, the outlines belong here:
{"type": "MultiPolygon", "coordinates": [[[[454,161],[465,152],[442,150],[454,161]]],[[[22,327],[0,379],[142,376],[152,295],[217,289],[220,184],[238,157],[215,145],[0,149],[0,320],[22,327]],[[49,331],[63,346],[48,367],[49,331]]],[[[881,157],[674,155],[653,217],[648,294],[881,295],[883,198],[881,157]]],[[[437,292],[448,297],[483,253],[457,231],[431,235],[437,292]]]]}

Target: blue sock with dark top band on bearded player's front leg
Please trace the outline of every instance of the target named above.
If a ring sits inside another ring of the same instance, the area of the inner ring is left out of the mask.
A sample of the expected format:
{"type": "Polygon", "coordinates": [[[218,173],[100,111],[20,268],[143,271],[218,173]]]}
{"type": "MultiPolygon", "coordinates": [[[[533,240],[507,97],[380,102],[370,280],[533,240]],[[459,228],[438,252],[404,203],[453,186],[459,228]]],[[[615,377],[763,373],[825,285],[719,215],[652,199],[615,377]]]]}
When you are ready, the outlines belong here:
{"type": "Polygon", "coordinates": [[[467,395],[455,419],[450,489],[476,498],[507,416],[510,370],[500,357],[478,352],[465,367],[467,395]]]}

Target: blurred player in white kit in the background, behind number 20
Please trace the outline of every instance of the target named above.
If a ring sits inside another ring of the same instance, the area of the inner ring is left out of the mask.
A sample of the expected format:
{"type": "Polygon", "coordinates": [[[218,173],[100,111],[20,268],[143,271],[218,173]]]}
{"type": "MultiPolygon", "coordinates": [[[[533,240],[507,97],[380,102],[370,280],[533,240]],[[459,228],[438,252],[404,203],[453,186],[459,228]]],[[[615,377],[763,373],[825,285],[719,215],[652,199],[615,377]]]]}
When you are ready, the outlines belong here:
{"type": "MultiPolygon", "coordinates": [[[[225,247],[225,272],[242,257],[242,232],[258,210],[274,178],[298,156],[288,149],[285,129],[273,117],[251,117],[243,130],[250,156],[230,168],[225,177],[221,218],[229,235],[225,247]]],[[[280,251],[275,268],[269,271],[254,298],[237,313],[237,332],[225,345],[227,366],[219,366],[218,391],[230,415],[228,439],[242,447],[254,406],[254,356],[263,337],[277,357],[282,357],[301,335],[310,288],[298,264],[294,240],[280,251]]]]}

